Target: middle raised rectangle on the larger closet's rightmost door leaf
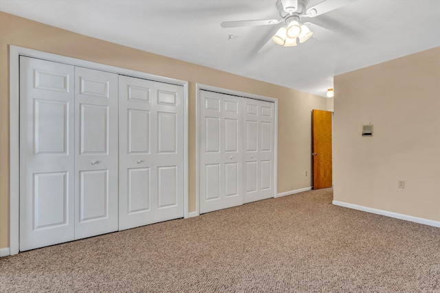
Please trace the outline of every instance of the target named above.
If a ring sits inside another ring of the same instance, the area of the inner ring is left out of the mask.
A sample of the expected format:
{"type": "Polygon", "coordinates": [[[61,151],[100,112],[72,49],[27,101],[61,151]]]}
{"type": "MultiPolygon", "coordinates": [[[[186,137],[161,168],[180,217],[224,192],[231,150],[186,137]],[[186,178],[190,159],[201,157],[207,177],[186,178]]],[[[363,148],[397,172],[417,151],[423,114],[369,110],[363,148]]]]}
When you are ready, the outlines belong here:
{"type": "Polygon", "coordinates": [[[177,152],[176,113],[157,112],[157,152],[177,152]]]}

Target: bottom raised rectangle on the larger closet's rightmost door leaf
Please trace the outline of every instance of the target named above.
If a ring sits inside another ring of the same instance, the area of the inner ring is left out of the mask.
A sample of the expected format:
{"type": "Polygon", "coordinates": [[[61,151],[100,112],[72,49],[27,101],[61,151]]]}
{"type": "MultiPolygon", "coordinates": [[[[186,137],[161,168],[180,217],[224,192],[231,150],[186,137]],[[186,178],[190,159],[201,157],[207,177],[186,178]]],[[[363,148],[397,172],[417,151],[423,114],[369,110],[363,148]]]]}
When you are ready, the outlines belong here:
{"type": "Polygon", "coordinates": [[[177,166],[157,167],[158,208],[177,205],[177,166]]]}

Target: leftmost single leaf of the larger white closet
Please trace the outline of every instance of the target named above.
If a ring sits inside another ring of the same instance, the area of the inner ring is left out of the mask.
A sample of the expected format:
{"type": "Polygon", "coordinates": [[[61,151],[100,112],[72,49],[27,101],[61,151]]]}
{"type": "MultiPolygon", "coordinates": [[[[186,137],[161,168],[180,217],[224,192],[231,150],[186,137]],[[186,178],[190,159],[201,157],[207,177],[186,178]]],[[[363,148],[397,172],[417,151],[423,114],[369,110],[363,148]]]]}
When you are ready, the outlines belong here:
{"type": "Polygon", "coordinates": [[[74,239],[74,67],[20,57],[20,250],[74,239]]]}

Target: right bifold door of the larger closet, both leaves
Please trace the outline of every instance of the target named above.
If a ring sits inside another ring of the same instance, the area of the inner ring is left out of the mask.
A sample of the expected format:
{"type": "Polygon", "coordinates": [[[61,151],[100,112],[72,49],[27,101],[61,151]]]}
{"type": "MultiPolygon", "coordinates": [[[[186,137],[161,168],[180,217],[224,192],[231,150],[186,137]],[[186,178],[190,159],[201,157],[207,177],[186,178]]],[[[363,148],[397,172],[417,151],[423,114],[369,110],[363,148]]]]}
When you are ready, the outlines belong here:
{"type": "Polygon", "coordinates": [[[183,86],[120,75],[120,230],[184,217],[183,86]]]}

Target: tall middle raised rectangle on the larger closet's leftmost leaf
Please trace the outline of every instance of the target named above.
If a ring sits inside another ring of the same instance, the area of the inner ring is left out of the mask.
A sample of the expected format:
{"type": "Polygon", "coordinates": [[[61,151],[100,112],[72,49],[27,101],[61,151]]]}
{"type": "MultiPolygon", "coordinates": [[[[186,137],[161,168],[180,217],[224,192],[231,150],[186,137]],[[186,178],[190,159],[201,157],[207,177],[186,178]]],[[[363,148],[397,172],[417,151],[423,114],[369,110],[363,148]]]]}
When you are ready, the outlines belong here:
{"type": "Polygon", "coordinates": [[[69,104],[34,100],[34,154],[68,154],[69,104]]]}

